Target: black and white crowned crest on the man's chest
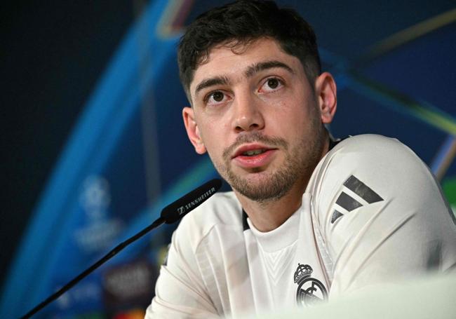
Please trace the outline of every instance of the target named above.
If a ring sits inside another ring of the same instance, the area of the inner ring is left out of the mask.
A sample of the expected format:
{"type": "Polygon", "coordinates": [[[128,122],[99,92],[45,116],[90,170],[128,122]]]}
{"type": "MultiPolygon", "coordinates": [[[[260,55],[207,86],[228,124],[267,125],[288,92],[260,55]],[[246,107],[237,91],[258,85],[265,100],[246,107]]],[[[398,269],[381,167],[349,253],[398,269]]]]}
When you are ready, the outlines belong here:
{"type": "Polygon", "coordinates": [[[314,270],[309,265],[297,264],[295,271],[296,303],[300,306],[314,304],[316,301],[328,300],[328,291],[320,280],[311,278],[314,270]]]}

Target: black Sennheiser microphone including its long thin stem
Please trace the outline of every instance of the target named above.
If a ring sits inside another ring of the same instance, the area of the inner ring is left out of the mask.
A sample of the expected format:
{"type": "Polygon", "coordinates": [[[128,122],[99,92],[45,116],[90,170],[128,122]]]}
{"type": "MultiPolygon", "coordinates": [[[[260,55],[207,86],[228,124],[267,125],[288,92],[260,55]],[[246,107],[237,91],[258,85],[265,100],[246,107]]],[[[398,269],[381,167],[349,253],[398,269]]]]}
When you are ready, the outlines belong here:
{"type": "Polygon", "coordinates": [[[221,186],[222,181],[220,179],[211,179],[209,182],[206,182],[205,184],[199,186],[197,189],[194,189],[193,191],[190,191],[188,194],[185,194],[177,201],[170,203],[170,205],[166,206],[166,208],[163,208],[163,210],[161,210],[160,217],[156,219],[155,222],[147,226],[145,229],[142,229],[142,231],[137,233],[135,236],[128,238],[127,240],[123,241],[122,243],[114,247],[114,249],[105,254],[105,257],[102,257],[102,259],[98,260],[98,262],[95,262],[95,264],[88,267],[88,269],[80,273],[79,276],[76,276],[76,278],[74,278],[69,283],[67,283],[67,285],[63,286],[60,290],[58,290],[58,292],[51,294],[51,296],[46,298],[43,302],[41,302],[41,304],[35,306],[31,311],[23,315],[21,318],[30,318],[32,315],[34,315],[42,308],[50,304],[52,301],[60,297],[62,294],[67,292],[69,288],[76,285],[76,283],[79,283],[79,281],[88,276],[92,271],[100,267],[102,264],[105,264],[105,262],[114,257],[118,252],[123,250],[123,248],[130,245],[130,243],[133,243],[135,240],[138,240],[149,231],[152,231],[152,229],[160,226],[163,223],[173,224],[177,222],[179,219],[184,217],[184,215],[186,215],[188,212],[194,210],[199,205],[201,205],[210,196],[213,196],[213,194],[215,194],[221,186]]]}

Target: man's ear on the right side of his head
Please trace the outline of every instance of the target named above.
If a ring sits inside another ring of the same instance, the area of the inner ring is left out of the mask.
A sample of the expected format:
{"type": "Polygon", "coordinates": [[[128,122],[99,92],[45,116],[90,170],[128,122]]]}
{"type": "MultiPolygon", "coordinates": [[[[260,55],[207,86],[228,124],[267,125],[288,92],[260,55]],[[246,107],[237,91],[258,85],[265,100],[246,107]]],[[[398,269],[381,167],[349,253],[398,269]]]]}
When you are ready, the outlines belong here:
{"type": "Polygon", "coordinates": [[[321,122],[323,124],[331,123],[337,109],[337,88],[330,73],[323,72],[316,78],[315,95],[318,107],[320,107],[321,122]]]}

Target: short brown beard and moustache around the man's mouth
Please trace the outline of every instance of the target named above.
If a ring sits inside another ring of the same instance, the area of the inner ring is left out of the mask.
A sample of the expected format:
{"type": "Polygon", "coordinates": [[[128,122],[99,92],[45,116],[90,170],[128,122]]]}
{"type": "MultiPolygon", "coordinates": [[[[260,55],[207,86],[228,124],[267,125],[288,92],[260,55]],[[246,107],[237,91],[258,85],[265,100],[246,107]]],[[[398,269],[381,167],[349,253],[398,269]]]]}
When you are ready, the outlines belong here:
{"type": "Polygon", "coordinates": [[[257,132],[240,135],[234,144],[224,150],[224,165],[215,164],[215,166],[233,189],[250,200],[260,204],[278,201],[288,194],[298,180],[309,179],[321,158],[324,145],[321,137],[323,134],[321,124],[311,132],[315,134],[313,137],[310,139],[302,137],[296,147],[290,150],[289,144],[279,137],[267,137],[257,132]],[[279,146],[286,152],[286,158],[281,168],[275,172],[257,172],[260,175],[257,184],[251,184],[248,179],[239,177],[231,169],[232,158],[230,156],[234,149],[243,143],[251,142],[262,142],[269,147],[279,146]]]}

